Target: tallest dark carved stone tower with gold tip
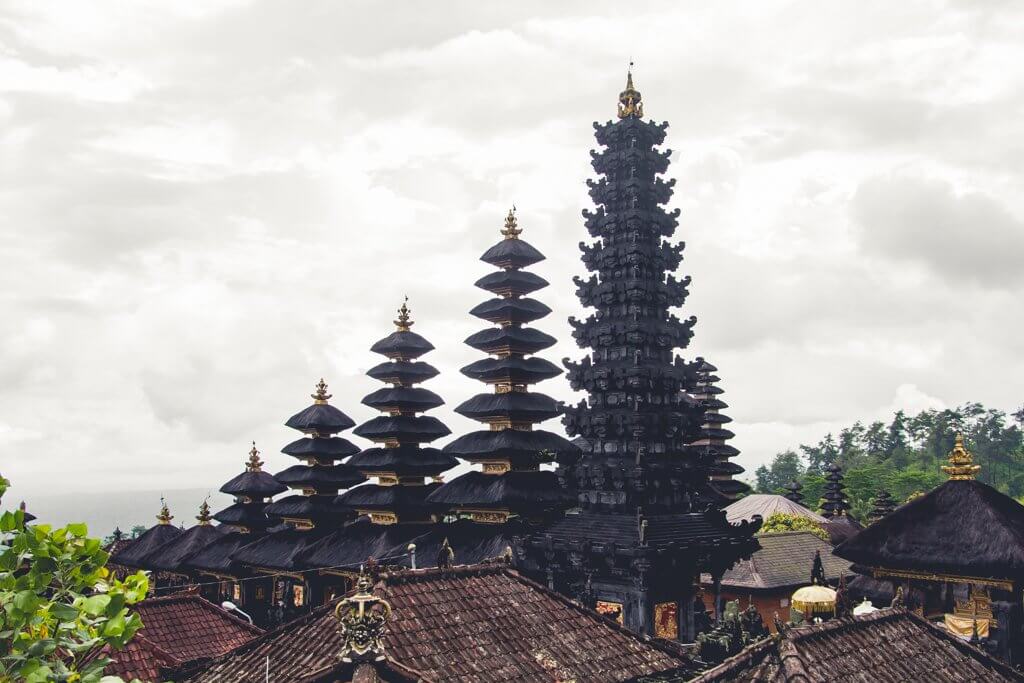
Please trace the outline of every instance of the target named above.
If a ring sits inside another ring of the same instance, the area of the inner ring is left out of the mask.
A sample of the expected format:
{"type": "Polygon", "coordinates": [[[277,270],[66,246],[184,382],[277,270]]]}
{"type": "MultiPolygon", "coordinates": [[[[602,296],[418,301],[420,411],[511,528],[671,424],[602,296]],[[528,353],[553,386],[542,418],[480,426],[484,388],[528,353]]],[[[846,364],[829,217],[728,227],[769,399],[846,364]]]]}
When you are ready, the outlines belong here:
{"type": "MultiPolygon", "coordinates": [[[[549,584],[627,627],[666,638],[693,638],[694,585],[719,579],[758,548],[757,524],[730,525],[707,500],[716,455],[700,440],[708,405],[691,395],[696,373],[675,349],[687,346],[695,318],[683,304],[689,279],[672,274],[683,244],[671,244],[678,210],[664,206],[674,181],[660,176],[670,151],[657,148],[668,124],[643,120],[632,74],[618,120],[594,124],[600,152],[588,182],[596,211],[584,211],[595,242],[582,244],[589,280],[575,279],[585,321],[573,337],[590,349],[569,362],[573,389],[589,398],[566,410],[582,460],[560,468],[580,509],[528,542],[524,554],[549,584]]],[[[528,561],[528,560],[527,560],[528,561]]]]}

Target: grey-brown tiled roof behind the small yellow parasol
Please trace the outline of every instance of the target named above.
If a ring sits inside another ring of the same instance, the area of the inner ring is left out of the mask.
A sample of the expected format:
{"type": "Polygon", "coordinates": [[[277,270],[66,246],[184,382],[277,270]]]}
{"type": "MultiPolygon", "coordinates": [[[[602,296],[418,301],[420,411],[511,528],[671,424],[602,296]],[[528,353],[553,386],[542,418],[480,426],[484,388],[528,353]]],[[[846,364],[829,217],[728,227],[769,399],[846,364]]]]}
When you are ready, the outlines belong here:
{"type": "MultiPolygon", "coordinates": [[[[769,590],[809,584],[815,552],[821,554],[828,582],[850,573],[850,562],[833,555],[831,546],[810,531],[763,533],[758,543],[761,550],[749,560],[739,560],[723,574],[723,587],[769,590]]],[[[705,579],[701,577],[701,581],[705,579]]],[[[707,581],[710,583],[710,577],[707,581]]]]}

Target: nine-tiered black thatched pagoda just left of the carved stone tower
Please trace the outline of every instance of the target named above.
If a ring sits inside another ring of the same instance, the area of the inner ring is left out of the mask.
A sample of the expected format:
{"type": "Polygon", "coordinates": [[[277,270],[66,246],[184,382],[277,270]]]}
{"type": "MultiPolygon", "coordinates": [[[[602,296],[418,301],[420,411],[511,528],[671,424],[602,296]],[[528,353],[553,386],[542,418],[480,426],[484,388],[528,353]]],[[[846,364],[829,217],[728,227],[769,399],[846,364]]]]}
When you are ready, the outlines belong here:
{"type": "MultiPolygon", "coordinates": [[[[520,237],[522,229],[515,208],[506,216],[501,233],[503,239],[480,257],[498,270],[475,283],[494,297],[470,310],[470,314],[495,327],[466,340],[488,357],[462,369],[464,375],[493,390],[476,394],[455,409],[487,428],[460,436],[444,446],[445,454],[479,465],[480,469],[445,483],[429,500],[455,518],[480,524],[538,524],[571,505],[558,476],[542,470],[541,465],[556,460],[573,462],[580,450],[562,436],[535,429],[536,424],[560,414],[553,398],[529,390],[531,385],[561,374],[554,364],[534,355],[553,345],[555,339],[525,327],[551,312],[528,296],[548,283],[523,270],[544,260],[544,255],[520,237]]],[[[494,529],[495,533],[499,531],[494,529]]],[[[461,554],[456,539],[452,539],[452,545],[457,562],[472,561],[461,554]]]]}

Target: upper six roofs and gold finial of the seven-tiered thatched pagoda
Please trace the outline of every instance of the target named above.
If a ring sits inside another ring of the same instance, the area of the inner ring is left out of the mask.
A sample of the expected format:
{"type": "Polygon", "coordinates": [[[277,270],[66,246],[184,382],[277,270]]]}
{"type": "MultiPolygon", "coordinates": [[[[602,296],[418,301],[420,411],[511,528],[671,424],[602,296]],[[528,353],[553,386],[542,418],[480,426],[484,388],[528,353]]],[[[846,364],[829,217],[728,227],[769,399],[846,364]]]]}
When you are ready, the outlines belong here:
{"type": "Polygon", "coordinates": [[[433,391],[415,385],[437,375],[437,370],[418,358],[433,345],[412,331],[409,298],[398,309],[396,330],[371,347],[388,358],[367,375],[390,386],[378,389],[362,399],[365,405],[384,415],[355,428],[354,433],[380,445],[353,456],[348,464],[375,483],[357,486],[338,497],[338,504],[371,521],[383,524],[431,521],[427,496],[440,483],[426,483],[424,477],[436,477],[455,467],[458,461],[437,449],[424,447],[452,433],[437,418],[420,415],[443,405],[433,391]]]}

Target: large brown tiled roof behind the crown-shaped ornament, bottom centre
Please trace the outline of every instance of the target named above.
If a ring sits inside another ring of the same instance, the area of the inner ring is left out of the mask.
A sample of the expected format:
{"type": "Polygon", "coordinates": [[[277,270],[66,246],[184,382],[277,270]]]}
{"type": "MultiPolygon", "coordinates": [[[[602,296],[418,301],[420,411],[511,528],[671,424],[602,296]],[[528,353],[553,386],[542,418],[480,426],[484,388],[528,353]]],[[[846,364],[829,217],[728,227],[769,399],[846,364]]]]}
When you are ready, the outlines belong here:
{"type": "MultiPolygon", "coordinates": [[[[675,650],[641,638],[504,565],[401,570],[374,592],[393,609],[384,651],[426,680],[629,681],[688,671],[675,650]]],[[[194,683],[298,683],[334,667],[342,640],[334,604],[230,652],[194,683]]]]}

